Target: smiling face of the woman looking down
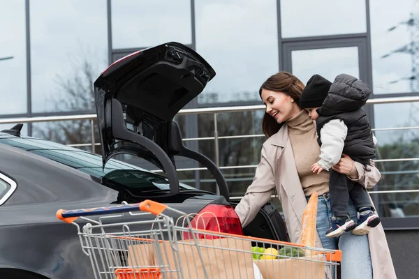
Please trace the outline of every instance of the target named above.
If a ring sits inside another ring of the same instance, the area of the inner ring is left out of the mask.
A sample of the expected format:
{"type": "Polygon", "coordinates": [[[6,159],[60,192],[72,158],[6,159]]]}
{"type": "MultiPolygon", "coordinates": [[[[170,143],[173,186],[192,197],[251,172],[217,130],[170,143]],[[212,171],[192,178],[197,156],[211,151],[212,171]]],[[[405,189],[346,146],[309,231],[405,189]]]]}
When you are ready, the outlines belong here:
{"type": "Polygon", "coordinates": [[[278,123],[287,121],[301,112],[294,99],[286,93],[262,89],[260,96],[266,106],[266,113],[274,117],[278,123]]]}

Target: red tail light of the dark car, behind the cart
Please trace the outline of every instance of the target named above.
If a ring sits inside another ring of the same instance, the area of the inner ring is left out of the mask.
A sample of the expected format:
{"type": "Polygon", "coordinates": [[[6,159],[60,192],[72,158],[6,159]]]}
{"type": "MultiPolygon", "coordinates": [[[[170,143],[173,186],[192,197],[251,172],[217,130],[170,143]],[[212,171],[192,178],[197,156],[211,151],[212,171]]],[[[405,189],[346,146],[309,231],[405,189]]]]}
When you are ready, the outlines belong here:
{"type": "MultiPolygon", "coordinates": [[[[193,229],[204,229],[210,232],[226,232],[243,235],[240,218],[233,207],[223,204],[208,204],[191,220],[193,229]]],[[[189,226],[188,226],[189,227],[189,226]]],[[[217,236],[196,234],[199,239],[218,239],[217,236]]],[[[184,233],[184,239],[192,239],[190,233],[184,233]]]]}

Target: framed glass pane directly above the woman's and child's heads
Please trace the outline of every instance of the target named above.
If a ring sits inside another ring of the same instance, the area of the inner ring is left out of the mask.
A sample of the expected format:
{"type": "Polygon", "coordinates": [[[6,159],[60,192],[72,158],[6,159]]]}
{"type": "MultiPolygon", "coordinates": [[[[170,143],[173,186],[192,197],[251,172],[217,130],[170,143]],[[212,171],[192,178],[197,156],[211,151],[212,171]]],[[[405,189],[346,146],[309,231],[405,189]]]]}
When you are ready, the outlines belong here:
{"type": "Polygon", "coordinates": [[[358,47],[334,47],[291,52],[293,74],[304,84],[317,73],[333,82],[341,73],[359,78],[358,47]]]}

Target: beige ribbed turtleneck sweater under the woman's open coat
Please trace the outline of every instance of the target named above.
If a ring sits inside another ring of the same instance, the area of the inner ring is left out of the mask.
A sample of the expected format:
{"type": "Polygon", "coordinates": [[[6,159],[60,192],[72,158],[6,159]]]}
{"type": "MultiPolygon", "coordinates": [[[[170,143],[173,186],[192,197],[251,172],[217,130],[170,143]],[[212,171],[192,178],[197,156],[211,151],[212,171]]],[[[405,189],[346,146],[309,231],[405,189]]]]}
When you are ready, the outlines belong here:
{"type": "Polygon", "coordinates": [[[317,143],[316,126],[306,110],[286,121],[288,136],[293,147],[295,167],[297,167],[304,195],[309,196],[315,191],[318,195],[329,192],[329,172],[320,174],[311,172],[311,165],[319,160],[320,146],[317,143]]]}

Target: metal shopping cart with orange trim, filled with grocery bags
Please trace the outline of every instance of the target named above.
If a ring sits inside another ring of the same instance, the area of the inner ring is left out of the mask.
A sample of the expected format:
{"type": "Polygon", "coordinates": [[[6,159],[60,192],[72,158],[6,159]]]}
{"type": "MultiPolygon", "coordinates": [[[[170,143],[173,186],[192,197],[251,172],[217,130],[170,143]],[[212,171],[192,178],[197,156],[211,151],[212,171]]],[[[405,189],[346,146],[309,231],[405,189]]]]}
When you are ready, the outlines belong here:
{"type": "Polygon", "coordinates": [[[340,250],[194,228],[190,215],[150,200],[61,209],[57,217],[77,227],[96,279],[336,278],[341,260],[340,250]],[[122,222],[126,213],[138,221],[122,222]],[[87,218],[96,215],[101,217],[87,218]],[[82,229],[75,223],[79,217],[87,221],[82,229]]]}

